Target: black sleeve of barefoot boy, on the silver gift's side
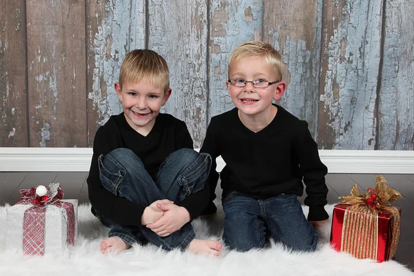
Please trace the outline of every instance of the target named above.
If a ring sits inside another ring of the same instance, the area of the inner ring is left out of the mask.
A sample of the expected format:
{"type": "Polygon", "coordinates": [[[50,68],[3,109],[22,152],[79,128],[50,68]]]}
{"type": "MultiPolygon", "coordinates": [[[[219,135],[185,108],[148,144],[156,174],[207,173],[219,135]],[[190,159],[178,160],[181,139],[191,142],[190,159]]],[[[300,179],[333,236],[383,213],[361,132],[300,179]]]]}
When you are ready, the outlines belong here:
{"type": "Polygon", "coordinates": [[[95,135],[92,162],[90,164],[88,179],[86,180],[88,183],[90,204],[103,217],[115,221],[118,224],[123,226],[141,226],[141,217],[146,206],[140,206],[128,199],[117,197],[106,190],[99,179],[98,157],[100,155],[106,155],[117,148],[115,146],[117,144],[116,141],[112,141],[111,143],[111,139],[115,138],[110,137],[102,128],[99,128],[95,135]]]}

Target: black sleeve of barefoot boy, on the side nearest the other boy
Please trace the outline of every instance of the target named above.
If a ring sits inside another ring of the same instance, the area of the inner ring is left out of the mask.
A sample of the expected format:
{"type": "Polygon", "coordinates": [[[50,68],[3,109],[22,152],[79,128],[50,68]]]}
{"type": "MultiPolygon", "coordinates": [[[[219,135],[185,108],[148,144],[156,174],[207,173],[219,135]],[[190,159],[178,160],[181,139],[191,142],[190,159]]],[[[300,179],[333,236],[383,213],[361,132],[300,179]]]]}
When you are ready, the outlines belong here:
{"type": "MultiPolygon", "coordinates": [[[[193,148],[193,139],[191,138],[190,132],[186,124],[183,122],[177,135],[177,150],[180,148],[193,148]]],[[[190,214],[190,221],[199,217],[201,212],[204,210],[208,203],[209,189],[208,186],[204,185],[204,188],[199,190],[197,193],[188,195],[183,201],[179,203],[179,206],[186,208],[190,214]]]]}

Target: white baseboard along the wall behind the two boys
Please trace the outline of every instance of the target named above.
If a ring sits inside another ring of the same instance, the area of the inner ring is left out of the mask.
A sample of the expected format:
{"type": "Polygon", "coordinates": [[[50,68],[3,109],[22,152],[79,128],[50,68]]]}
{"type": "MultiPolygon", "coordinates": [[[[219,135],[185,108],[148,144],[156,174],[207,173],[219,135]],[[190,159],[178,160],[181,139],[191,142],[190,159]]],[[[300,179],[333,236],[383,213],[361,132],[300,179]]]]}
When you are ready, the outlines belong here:
{"type": "MultiPolygon", "coordinates": [[[[414,174],[413,150],[319,150],[331,173],[414,174]]],[[[0,172],[87,172],[92,148],[0,148],[0,172]]],[[[217,158],[217,170],[224,168],[217,158]]]]}

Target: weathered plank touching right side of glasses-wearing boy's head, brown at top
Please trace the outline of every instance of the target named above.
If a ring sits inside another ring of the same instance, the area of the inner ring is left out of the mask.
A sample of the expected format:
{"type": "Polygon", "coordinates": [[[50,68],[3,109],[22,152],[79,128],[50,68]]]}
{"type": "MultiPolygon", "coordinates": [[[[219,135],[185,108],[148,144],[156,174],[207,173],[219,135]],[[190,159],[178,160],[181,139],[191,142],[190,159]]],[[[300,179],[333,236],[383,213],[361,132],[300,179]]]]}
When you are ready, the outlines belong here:
{"type": "Polygon", "coordinates": [[[285,63],[288,83],[279,103],[317,132],[322,0],[264,2],[264,41],[272,44],[285,63]]]}

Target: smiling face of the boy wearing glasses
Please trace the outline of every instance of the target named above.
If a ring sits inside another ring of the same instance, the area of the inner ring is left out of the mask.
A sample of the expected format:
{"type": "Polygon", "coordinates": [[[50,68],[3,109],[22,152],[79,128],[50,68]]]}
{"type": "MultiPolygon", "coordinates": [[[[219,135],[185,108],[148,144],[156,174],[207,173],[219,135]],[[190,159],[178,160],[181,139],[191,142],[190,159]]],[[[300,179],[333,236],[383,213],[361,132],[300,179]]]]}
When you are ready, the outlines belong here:
{"type": "MultiPolygon", "coordinates": [[[[273,66],[266,62],[263,57],[244,57],[243,59],[233,61],[230,64],[229,79],[245,79],[254,81],[262,79],[264,81],[277,81],[278,74],[273,66]]],[[[270,114],[273,99],[278,100],[282,97],[286,83],[280,81],[268,88],[255,88],[252,83],[246,83],[246,86],[240,88],[226,83],[230,97],[239,109],[245,115],[257,116],[270,114]]]]}

